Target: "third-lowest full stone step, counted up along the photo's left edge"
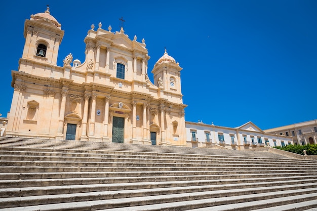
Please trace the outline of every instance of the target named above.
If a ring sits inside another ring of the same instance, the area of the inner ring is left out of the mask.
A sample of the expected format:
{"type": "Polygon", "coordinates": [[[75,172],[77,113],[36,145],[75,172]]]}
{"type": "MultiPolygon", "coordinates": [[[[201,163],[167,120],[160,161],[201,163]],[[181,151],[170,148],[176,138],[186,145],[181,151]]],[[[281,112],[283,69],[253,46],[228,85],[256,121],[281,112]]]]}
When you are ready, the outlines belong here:
{"type": "Polygon", "coordinates": [[[146,182],[169,182],[177,185],[186,181],[188,185],[199,184],[230,184],[258,182],[273,182],[279,180],[315,179],[317,175],[308,176],[286,176],[286,175],[218,175],[218,176],[179,176],[179,177],[129,177],[129,178],[71,178],[71,179],[44,179],[44,180],[5,180],[0,181],[0,188],[62,186],[62,185],[89,185],[89,184],[111,184],[111,183],[146,183],[146,182]]]}

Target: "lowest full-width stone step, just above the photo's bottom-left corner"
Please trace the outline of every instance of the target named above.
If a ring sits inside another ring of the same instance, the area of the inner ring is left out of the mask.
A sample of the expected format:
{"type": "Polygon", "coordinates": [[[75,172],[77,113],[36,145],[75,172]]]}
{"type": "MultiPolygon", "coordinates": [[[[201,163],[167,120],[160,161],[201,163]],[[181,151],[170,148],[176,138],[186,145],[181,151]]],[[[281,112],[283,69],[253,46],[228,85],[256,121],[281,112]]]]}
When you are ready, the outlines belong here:
{"type": "MultiPolygon", "coordinates": [[[[18,206],[32,206],[39,204],[50,204],[50,203],[65,203],[75,201],[92,201],[92,200],[105,200],[105,199],[124,199],[133,197],[147,197],[147,196],[162,196],[169,195],[174,200],[168,199],[169,202],[182,200],[183,197],[190,197],[191,200],[204,199],[204,198],[216,198],[221,196],[237,196],[257,193],[271,193],[276,191],[294,190],[300,191],[302,194],[311,193],[312,188],[316,188],[317,183],[313,184],[300,184],[293,186],[273,186],[273,187],[259,187],[259,188],[240,188],[228,189],[228,190],[216,190],[216,191],[197,191],[191,190],[190,195],[188,192],[182,191],[182,189],[165,190],[164,188],[146,190],[133,190],[133,191],[97,191],[97,192],[86,192],[86,193],[72,193],[72,194],[56,194],[56,195],[39,195],[39,196],[23,196],[23,197],[11,197],[11,198],[0,198],[0,208],[6,207],[18,207],[18,206]],[[305,191],[306,190],[306,191],[305,191]],[[181,192],[181,193],[180,193],[181,192]],[[185,195],[185,196],[184,196],[185,195]]],[[[317,190],[317,189],[315,189],[317,190]]],[[[274,194],[274,193],[272,193],[274,194]]],[[[159,199],[161,200],[161,199],[159,199]]],[[[165,199],[166,200],[166,199],[165,199]]],[[[190,200],[190,199],[189,199],[190,200]]],[[[154,202],[156,203],[156,202],[154,202]]]]}

